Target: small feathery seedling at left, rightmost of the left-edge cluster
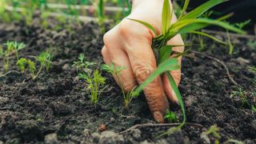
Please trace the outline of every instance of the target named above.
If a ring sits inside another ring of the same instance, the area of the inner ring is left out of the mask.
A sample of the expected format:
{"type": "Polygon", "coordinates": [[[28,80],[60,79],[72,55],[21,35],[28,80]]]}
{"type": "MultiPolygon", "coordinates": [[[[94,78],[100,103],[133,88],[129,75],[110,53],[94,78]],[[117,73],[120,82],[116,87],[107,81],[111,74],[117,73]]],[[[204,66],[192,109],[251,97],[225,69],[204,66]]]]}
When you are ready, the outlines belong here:
{"type": "MultiPolygon", "coordinates": [[[[38,78],[38,75],[42,72],[42,69],[44,67],[46,67],[47,71],[50,69],[51,58],[52,58],[52,55],[50,54],[50,52],[46,52],[46,51],[42,52],[37,57],[35,57],[35,59],[40,63],[40,68],[38,70],[38,73],[34,75],[33,79],[38,78]]],[[[32,67],[33,66],[31,66],[31,68],[32,67]]],[[[31,70],[33,70],[33,69],[31,69],[31,70]]]]}

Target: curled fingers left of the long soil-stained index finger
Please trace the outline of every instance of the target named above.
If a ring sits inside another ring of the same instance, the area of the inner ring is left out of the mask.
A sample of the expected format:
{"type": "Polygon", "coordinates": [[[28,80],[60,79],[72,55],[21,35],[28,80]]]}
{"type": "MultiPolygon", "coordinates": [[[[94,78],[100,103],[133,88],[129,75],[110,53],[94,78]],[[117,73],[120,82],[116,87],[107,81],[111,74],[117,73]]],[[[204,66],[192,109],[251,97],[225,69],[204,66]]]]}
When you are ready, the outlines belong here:
{"type": "Polygon", "coordinates": [[[117,47],[117,42],[112,42],[110,35],[104,37],[104,42],[106,44],[106,46],[102,48],[104,62],[108,65],[113,62],[114,66],[124,67],[124,70],[121,70],[118,75],[114,75],[115,81],[119,86],[122,86],[126,92],[132,90],[134,86],[137,85],[137,82],[134,78],[127,54],[120,47],[117,47]]]}

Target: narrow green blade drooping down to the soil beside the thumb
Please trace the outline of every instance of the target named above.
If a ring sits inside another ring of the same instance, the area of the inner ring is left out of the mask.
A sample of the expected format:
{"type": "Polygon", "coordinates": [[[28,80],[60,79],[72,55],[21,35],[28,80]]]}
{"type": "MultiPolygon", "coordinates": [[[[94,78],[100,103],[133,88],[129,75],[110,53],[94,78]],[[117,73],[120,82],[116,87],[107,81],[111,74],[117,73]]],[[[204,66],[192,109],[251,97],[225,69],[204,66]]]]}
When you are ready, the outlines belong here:
{"type": "Polygon", "coordinates": [[[178,98],[178,102],[182,108],[183,121],[182,121],[182,124],[179,126],[179,127],[182,127],[182,126],[184,126],[184,124],[186,122],[186,111],[185,111],[184,102],[182,100],[182,94],[180,94],[178,87],[176,86],[176,83],[174,82],[174,78],[171,76],[171,74],[169,72],[166,72],[166,75],[169,79],[170,86],[173,88],[174,93],[176,94],[176,96],[178,98]]]}

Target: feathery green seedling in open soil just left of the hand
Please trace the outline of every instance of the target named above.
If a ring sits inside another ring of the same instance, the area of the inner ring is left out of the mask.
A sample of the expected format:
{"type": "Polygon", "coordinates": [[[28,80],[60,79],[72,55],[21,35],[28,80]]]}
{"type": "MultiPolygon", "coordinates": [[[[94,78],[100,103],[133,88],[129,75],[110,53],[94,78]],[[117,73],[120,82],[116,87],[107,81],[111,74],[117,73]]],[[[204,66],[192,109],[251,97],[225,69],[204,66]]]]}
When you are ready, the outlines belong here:
{"type": "Polygon", "coordinates": [[[94,66],[94,63],[86,62],[84,54],[79,55],[78,61],[74,62],[73,66],[77,68],[79,78],[85,80],[89,85],[87,89],[90,90],[90,102],[96,104],[102,91],[107,87],[105,86],[100,90],[100,86],[106,84],[106,78],[102,77],[98,70],[91,70],[91,66],[94,66]]]}

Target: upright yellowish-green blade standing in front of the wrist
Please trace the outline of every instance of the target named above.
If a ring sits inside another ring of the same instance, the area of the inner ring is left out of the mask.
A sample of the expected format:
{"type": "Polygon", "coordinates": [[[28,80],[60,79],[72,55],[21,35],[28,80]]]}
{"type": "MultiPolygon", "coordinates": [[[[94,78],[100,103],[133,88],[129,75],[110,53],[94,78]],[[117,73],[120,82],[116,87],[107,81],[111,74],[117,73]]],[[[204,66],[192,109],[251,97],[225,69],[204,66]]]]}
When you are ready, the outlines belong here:
{"type": "Polygon", "coordinates": [[[162,7],[162,34],[166,35],[170,28],[172,11],[170,10],[170,0],[165,0],[162,7]]]}

